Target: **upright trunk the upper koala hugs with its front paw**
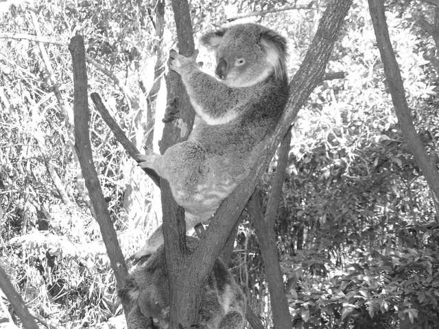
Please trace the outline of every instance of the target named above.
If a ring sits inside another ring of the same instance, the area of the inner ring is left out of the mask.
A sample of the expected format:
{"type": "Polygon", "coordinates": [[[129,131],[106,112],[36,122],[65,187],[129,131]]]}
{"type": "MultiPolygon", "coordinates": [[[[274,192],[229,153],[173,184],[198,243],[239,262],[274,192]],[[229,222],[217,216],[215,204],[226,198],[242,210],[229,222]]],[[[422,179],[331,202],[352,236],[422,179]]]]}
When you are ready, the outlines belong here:
{"type": "MultiPolygon", "coordinates": [[[[173,0],[172,9],[176,21],[178,50],[183,56],[190,56],[195,50],[189,3],[173,0]]],[[[167,118],[163,137],[159,143],[161,154],[176,143],[186,141],[191,132],[195,112],[179,75],[169,71],[166,77],[167,118]],[[172,115],[178,114],[176,119],[172,115]]],[[[190,328],[197,322],[202,295],[201,289],[185,287],[187,267],[190,266],[186,250],[185,212],[176,204],[168,182],[161,180],[161,200],[163,212],[163,238],[165,241],[166,264],[169,274],[170,315],[169,328],[190,328]],[[180,327],[182,326],[182,327],[180,327]]]]}

